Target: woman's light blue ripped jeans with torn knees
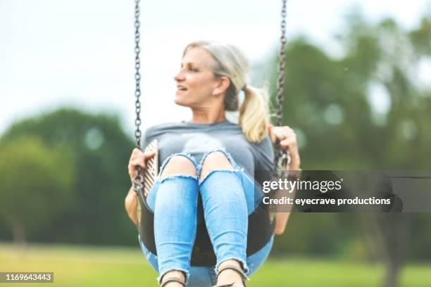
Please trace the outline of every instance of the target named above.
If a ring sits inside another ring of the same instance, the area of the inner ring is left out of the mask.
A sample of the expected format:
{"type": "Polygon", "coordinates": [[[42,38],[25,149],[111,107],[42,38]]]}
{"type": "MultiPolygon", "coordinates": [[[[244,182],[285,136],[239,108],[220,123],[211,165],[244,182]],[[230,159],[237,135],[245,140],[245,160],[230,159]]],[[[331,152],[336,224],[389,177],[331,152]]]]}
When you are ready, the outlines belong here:
{"type": "Polygon", "coordinates": [[[146,198],[149,208],[154,212],[157,255],[147,250],[139,238],[146,259],[159,274],[158,283],[161,283],[166,272],[180,270],[185,273],[189,287],[213,286],[216,283],[218,265],[230,259],[241,262],[248,276],[256,272],[273,245],[271,237],[261,250],[246,256],[248,215],[254,211],[261,198],[261,191],[255,188],[254,180],[245,174],[223,148],[206,153],[199,164],[186,153],[166,158],[146,198]],[[215,151],[225,154],[233,170],[212,170],[199,181],[206,156],[215,151]],[[161,179],[163,168],[174,156],[188,158],[196,167],[196,176],[175,174],[161,179]],[[199,193],[203,215],[197,209],[199,193]],[[203,220],[217,259],[214,267],[190,266],[196,226],[203,220]]]}

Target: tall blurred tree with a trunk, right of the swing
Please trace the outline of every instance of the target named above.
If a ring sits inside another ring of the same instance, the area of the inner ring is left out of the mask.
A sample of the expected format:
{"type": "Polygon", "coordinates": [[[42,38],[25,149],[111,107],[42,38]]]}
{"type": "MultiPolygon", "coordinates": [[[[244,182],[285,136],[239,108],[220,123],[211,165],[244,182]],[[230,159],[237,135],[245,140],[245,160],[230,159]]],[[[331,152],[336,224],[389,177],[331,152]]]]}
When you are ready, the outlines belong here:
{"type": "MultiPolygon", "coordinates": [[[[431,18],[423,18],[420,27],[412,31],[402,30],[391,19],[370,25],[356,12],[349,15],[347,22],[346,29],[337,36],[343,49],[337,58],[304,37],[287,46],[283,120],[298,134],[302,168],[429,169],[429,159],[424,155],[431,144],[431,114],[426,112],[431,108],[431,91],[412,75],[418,75],[420,61],[430,56],[431,18]]],[[[273,65],[272,83],[277,79],[275,71],[273,65]]],[[[272,103],[275,104],[274,98],[272,103]]],[[[313,241],[304,238],[304,234],[313,234],[318,236],[321,249],[335,250],[330,248],[334,242],[342,243],[349,237],[342,234],[346,233],[342,225],[346,220],[354,225],[352,215],[295,214],[289,222],[291,229],[275,248],[282,248],[282,242],[285,248],[288,242],[300,242],[301,246],[308,244],[304,250],[313,250],[313,241]],[[341,232],[321,231],[319,227],[329,219],[341,232]],[[320,233],[316,234],[316,230],[320,233]]],[[[373,215],[364,220],[375,223],[375,228],[368,226],[367,230],[378,231],[367,234],[382,250],[386,286],[397,285],[411,220],[404,214],[373,215]]],[[[430,223],[429,217],[427,222],[430,223]]],[[[414,231],[420,232],[417,225],[414,231]]],[[[357,235],[358,229],[351,234],[357,235]]],[[[424,252],[429,249],[426,244],[420,248],[424,252]]]]}

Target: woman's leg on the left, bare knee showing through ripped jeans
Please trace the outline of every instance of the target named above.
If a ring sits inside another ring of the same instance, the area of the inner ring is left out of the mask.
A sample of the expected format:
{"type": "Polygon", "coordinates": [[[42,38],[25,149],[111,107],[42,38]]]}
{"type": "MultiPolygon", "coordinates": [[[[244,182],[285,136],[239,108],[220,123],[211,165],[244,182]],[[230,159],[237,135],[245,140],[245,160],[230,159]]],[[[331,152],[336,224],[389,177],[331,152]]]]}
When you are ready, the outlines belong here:
{"type": "Polygon", "coordinates": [[[154,203],[158,282],[161,283],[163,276],[188,280],[196,237],[198,188],[194,160],[187,155],[173,155],[163,163],[159,180],[154,203]]]}

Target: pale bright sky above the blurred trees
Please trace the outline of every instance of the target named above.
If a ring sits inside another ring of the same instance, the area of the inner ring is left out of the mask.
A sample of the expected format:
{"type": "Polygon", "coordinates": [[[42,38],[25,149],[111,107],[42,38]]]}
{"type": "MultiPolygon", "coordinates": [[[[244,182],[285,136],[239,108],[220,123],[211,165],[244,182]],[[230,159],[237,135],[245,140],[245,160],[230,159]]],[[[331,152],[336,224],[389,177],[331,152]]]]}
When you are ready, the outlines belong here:
{"type": "MultiPolygon", "coordinates": [[[[287,39],[304,34],[337,56],[333,36],[352,8],[368,20],[392,17],[411,29],[430,0],[290,0],[287,39]]],[[[135,118],[135,1],[1,0],[0,134],[13,122],[59,107],[118,113],[132,136],[135,118]]],[[[280,0],[183,0],[141,3],[144,127],[188,120],[175,106],[175,81],[187,43],[235,44],[251,65],[279,48],[280,0]]]]}

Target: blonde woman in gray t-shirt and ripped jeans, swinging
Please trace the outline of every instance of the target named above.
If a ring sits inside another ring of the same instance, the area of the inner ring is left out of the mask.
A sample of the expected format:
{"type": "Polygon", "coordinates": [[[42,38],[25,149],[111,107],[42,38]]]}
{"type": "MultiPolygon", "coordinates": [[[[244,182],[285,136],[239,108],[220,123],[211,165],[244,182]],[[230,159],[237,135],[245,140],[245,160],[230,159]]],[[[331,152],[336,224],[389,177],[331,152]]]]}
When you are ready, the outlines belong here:
{"type": "MultiPolygon", "coordinates": [[[[273,236],[257,253],[246,256],[248,215],[256,207],[254,171],[273,170],[273,142],[289,149],[291,170],[299,170],[296,135],[289,127],[268,125],[266,103],[249,86],[249,64],[235,46],[218,42],[189,44],[175,76],[175,103],[192,109],[192,120],[146,131],[144,144],[158,139],[163,164],[146,201],[154,211],[157,256],[141,247],[158,272],[158,283],[175,286],[245,286],[270,253],[273,236]],[[244,102],[239,107],[239,93],[244,102]],[[225,111],[239,109],[239,125],[225,111]],[[268,136],[268,131],[270,136],[268,136]],[[204,214],[196,208],[201,195],[204,214]],[[217,258],[214,268],[190,266],[196,224],[205,220],[217,258]]],[[[132,152],[130,178],[154,153],[132,152]]],[[[137,196],[130,189],[125,207],[136,220],[137,196]]],[[[275,234],[289,217],[277,213],[275,234]]]]}

